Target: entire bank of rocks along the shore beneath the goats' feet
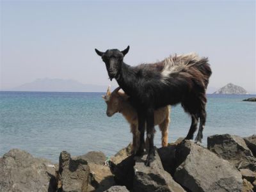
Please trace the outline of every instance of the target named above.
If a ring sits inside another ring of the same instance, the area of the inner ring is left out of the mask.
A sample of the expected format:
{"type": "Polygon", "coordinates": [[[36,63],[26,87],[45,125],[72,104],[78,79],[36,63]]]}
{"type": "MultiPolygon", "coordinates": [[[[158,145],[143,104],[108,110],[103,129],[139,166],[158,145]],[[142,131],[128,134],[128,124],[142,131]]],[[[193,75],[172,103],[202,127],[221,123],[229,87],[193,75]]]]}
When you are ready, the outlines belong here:
{"type": "Polygon", "coordinates": [[[102,152],[61,152],[55,166],[12,149],[0,158],[0,191],[256,191],[255,138],[209,136],[208,148],[180,139],[158,148],[149,167],[131,145],[110,161],[102,152]]]}

